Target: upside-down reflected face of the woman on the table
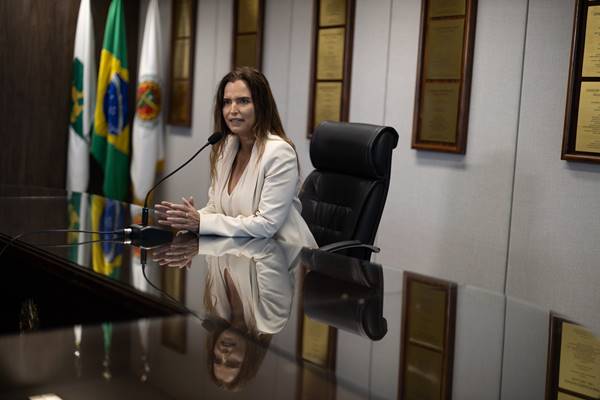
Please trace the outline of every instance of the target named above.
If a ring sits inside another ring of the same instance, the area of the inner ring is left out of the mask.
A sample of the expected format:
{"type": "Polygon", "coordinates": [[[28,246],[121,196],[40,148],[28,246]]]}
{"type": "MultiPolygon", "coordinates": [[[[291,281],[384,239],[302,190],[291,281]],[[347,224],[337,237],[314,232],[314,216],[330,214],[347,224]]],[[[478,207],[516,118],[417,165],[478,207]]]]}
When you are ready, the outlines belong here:
{"type": "Polygon", "coordinates": [[[227,329],[217,338],[213,352],[215,377],[221,382],[233,382],[246,356],[246,340],[239,333],[227,329]]]}

